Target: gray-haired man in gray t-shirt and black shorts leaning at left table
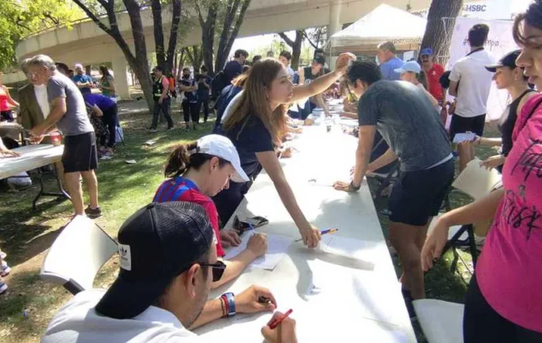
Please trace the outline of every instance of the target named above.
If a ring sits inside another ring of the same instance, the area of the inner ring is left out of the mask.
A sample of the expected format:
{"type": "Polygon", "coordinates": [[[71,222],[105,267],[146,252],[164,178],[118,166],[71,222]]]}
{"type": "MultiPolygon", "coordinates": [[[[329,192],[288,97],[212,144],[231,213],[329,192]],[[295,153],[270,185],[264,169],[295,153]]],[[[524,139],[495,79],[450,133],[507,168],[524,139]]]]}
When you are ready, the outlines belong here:
{"type": "Polygon", "coordinates": [[[54,61],[45,55],[34,56],[27,64],[28,76],[37,83],[47,84],[50,112],[47,118],[30,134],[39,143],[44,134],[58,128],[64,136],[64,179],[76,215],[99,217],[102,214],[98,204],[98,181],[95,169],[98,167],[96,137],[88,119],[83,95],[72,80],[56,71],[54,61]],[[56,127],[55,127],[56,126],[56,127]],[[83,189],[79,179],[83,176],[88,188],[90,204],[85,210],[83,189]]]}

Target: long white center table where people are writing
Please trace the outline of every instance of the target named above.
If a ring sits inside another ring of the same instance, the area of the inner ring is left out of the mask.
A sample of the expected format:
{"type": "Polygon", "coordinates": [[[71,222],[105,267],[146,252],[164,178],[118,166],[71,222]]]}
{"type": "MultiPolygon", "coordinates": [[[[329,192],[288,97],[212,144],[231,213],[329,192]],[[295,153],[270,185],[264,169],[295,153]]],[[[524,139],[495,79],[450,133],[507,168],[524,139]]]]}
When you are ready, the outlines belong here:
{"type": "MultiPolygon", "coordinates": [[[[337,236],[363,240],[357,247],[363,260],[313,251],[294,242],[299,231],[263,172],[236,215],[240,219],[267,217],[269,224],[257,231],[291,237],[287,255],[272,271],[248,267],[233,284],[213,291],[210,297],[224,291],[238,293],[251,284],[269,288],[277,297],[279,311],[294,310],[291,317],[296,319],[299,342],[416,342],[366,181],[355,194],[331,187],[333,180],[347,181],[354,165],[356,139],[339,131],[337,127],[331,133],[325,126],[305,127],[291,141],[299,152],[281,163],[308,220],[319,229],[339,229],[337,236]],[[309,179],[316,179],[316,184],[309,179]]],[[[226,227],[231,227],[231,220],[226,227]]],[[[208,342],[261,342],[260,327],[270,315],[237,315],[196,332],[208,337],[208,342]]]]}

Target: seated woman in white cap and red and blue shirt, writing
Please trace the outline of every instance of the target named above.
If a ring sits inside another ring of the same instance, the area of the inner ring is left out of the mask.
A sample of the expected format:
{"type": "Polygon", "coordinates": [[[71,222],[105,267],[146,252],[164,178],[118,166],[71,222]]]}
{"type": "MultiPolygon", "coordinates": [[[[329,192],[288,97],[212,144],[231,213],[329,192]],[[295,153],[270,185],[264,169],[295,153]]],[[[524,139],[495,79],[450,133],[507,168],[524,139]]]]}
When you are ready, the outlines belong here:
{"type": "MultiPolygon", "coordinates": [[[[217,207],[209,198],[229,188],[230,179],[235,182],[248,181],[231,140],[224,136],[208,135],[193,143],[179,145],[169,155],[164,174],[169,179],[158,187],[153,200],[155,203],[188,201],[203,206],[215,230],[217,255],[224,256],[222,241],[228,246],[239,246],[241,239],[235,231],[219,231],[217,207]]],[[[252,236],[244,251],[226,261],[224,275],[213,282],[212,287],[219,287],[237,277],[266,250],[265,234],[252,236]]]]}

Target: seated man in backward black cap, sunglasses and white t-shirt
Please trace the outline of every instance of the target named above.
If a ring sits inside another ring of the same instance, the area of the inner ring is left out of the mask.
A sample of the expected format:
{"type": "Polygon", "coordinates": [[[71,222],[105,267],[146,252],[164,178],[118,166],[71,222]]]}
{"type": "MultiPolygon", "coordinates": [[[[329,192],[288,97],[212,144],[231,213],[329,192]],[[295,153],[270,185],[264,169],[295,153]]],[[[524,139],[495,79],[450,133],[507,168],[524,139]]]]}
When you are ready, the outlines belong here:
{"type": "MultiPolygon", "coordinates": [[[[275,310],[275,298],[262,287],[207,300],[211,282],[226,268],[213,240],[200,205],[141,208],[119,230],[121,270],[115,282],[107,291],[82,291],[68,301],[42,343],[203,342],[190,330],[236,313],[275,310]]],[[[263,327],[266,342],[295,343],[295,321],[287,318],[280,326],[263,327]]]]}

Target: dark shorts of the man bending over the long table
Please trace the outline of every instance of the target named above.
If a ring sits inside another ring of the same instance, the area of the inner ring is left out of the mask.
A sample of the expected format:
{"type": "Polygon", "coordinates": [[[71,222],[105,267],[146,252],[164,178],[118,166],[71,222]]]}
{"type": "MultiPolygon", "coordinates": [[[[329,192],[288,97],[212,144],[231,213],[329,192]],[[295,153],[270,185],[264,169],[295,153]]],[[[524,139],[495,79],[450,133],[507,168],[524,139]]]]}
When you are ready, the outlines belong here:
{"type": "Polygon", "coordinates": [[[390,194],[390,220],[421,227],[438,214],[454,181],[454,160],[418,172],[399,172],[390,194]]]}

